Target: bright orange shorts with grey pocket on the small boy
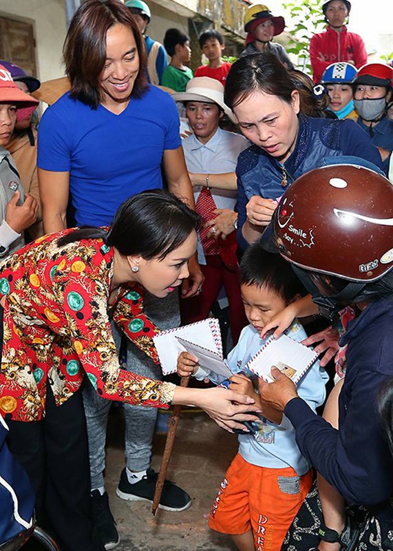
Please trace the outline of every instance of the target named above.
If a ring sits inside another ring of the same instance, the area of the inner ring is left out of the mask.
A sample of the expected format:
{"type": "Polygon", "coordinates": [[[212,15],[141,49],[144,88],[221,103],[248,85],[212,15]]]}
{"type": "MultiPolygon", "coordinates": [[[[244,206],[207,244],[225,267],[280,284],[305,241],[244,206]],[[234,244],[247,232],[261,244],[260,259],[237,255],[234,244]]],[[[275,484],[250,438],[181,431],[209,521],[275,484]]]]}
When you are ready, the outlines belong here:
{"type": "Polygon", "coordinates": [[[209,526],[224,534],[253,530],[255,551],[280,551],[290,524],[310,490],[312,470],[271,469],[238,453],[211,507],[209,526]]]}

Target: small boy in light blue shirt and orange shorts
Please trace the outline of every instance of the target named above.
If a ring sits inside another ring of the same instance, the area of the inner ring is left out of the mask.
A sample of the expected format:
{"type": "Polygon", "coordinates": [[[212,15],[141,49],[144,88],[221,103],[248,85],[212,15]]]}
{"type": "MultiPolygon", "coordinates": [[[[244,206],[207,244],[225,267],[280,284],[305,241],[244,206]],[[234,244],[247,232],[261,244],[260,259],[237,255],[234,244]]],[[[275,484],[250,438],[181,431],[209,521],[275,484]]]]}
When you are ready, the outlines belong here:
{"type": "MultiPolygon", "coordinates": [[[[277,254],[267,253],[256,243],[249,247],[240,263],[242,298],[250,324],[226,362],[233,373],[251,375],[246,363],[261,349],[265,324],[285,306],[304,293],[292,269],[277,254]]],[[[295,320],[286,331],[294,340],[306,338],[295,320]]],[[[197,379],[209,377],[220,384],[220,377],[198,366],[195,357],[181,353],[178,374],[192,373],[197,379]]],[[[255,378],[255,377],[254,377],[255,378]]],[[[231,377],[231,389],[242,386],[244,375],[231,377]]],[[[325,399],[326,372],[319,362],[308,370],[297,385],[299,395],[315,410],[325,399]]],[[[254,392],[257,404],[259,397],[254,392]]],[[[253,423],[255,434],[239,436],[239,451],[220,485],[211,508],[209,526],[230,534],[242,551],[279,551],[290,523],[304,501],[312,482],[310,464],[295,442],[295,430],[284,416],[276,425],[262,417],[253,423]]]]}

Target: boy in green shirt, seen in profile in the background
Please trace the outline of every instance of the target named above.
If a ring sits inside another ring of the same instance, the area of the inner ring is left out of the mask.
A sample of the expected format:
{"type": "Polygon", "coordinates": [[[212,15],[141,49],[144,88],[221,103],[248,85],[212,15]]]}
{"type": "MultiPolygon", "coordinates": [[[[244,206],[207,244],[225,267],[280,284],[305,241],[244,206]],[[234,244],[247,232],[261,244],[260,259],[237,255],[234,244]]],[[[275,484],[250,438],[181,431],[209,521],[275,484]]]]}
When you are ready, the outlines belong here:
{"type": "Polygon", "coordinates": [[[171,63],[164,70],[161,84],[175,92],[185,92],[188,81],[193,78],[190,67],[184,65],[191,58],[190,37],[179,29],[168,29],[164,47],[171,56],[171,63]]]}

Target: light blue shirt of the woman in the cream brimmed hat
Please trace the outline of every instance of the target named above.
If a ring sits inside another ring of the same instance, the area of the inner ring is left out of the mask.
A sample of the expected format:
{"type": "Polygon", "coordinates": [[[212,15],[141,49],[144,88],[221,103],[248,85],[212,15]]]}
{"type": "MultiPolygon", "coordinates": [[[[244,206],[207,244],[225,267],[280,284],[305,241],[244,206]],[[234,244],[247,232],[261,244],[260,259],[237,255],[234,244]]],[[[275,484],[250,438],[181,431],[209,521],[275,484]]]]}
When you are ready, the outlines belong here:
{"type": "MultiPolygon", "coordinates": [[[[207,143],[198,140],[191,134],[182,141],[187,170],[196,174],[225,174],[235,172],[237,157],[249,147],[250,143],[244,136],[217,129],[207,143]]],[[[201,187],[194,187],[194,199],[197,201],[201,187]]],[[[211,189],[211,195],[217,209],[231,209],[236,205],[237,191],[227,189],[211,189]]],[[[206,264],[200,239],[198,238],[198,260],[206,264]]]]}

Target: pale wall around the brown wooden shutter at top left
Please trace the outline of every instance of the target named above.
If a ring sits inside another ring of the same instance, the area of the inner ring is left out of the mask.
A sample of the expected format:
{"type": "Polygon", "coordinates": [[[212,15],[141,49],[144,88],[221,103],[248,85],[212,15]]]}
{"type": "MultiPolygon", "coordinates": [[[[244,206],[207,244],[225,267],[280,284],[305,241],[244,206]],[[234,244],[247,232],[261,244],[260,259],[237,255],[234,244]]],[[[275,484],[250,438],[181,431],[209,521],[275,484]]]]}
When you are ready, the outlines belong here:
{"type": "Polygon", "coordinates": [[[33,24],[37,71],[41,81],[63,76],[64,0],[1,0],[0,15],[33,24]]]}

